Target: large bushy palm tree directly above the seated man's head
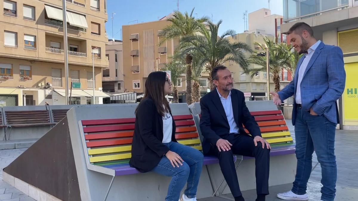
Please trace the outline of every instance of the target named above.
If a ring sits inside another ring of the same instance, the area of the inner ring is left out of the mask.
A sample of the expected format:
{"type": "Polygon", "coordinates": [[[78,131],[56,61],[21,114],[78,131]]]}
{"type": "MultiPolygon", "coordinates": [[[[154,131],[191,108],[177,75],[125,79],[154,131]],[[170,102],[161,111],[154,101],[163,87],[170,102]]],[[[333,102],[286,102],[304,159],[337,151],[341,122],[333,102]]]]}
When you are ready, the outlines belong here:
{"type": "MultiPolygon", "coordinates": [[[[205,66],[207,72],[211,74],[214,67],[222,65],[227,61],[233,61],[240,65],[245,71],[249,72],[249,62],[244,51],[252,52],[249,45],[243,42],[230,42],[227,36],[236,39],[234,30],[227,30],[218,36],[220,20],[217,24],[209,22],[207,25],[200,24],[200,35],[183,36],[180,39],[181,54],[191,54],[198,58],[198,65],[205,66]]],[[[209,76],[210,88],[214,89],[212,78],[209,76]]]]}

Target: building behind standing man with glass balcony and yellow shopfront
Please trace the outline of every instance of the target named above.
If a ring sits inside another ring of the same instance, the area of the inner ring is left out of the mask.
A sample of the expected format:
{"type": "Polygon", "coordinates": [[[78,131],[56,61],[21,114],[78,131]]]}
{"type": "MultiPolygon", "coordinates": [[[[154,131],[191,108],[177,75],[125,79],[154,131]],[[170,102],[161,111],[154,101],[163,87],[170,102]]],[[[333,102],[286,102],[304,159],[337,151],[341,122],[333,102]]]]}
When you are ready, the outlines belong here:
{"type": "MultiPolygon", "coordinates": [[[[284,0],[282,33],[297,22],[309,24],[316,39],[337,45],[343,51],[347,74],[345,90],[339,99],[341,128],[358,130],[358,0],[284,0]]],[[[289,43],[287,38],[287,43],[289,43]]]]}

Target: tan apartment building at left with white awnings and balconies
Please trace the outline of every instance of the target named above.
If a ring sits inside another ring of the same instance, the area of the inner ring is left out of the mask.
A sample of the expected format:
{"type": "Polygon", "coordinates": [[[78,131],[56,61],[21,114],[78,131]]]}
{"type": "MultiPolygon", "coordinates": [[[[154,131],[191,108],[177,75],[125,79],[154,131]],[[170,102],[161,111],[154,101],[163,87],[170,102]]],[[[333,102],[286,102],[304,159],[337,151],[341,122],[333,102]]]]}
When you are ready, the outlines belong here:
{"type": "MultiPolygon", "coordinates": [[[[66,4],[69,86],[76,83],[71,102],[93,103],[93,62],[96,103],[102,103],[106,1],[66,4]]],[[[0,106],[65,104],[62,1],[0,0],[0,9],[0,106]]]]}

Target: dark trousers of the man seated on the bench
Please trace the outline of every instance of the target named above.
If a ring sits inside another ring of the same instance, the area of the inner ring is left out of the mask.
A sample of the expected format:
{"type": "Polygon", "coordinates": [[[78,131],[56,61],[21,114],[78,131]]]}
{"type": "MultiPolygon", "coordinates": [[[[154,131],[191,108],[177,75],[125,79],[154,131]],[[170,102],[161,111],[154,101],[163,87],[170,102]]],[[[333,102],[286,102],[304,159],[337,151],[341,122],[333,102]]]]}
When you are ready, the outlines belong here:
{"type": "Polygon", "coordinates": [[[233,154],[255,157],[256,165],[256,192],[257,194],[269,195],[269,170],[270,170],[270,149],[262,148],[261,142],[257,147],[253,138],[247,134],[227,134],[222,137],[232,144],[231,150],[219,152],[216,145],[211,147],[210,155],[219,158],[221,172],[234,197],[241,196],[240,186],[235,171],[233,154]]]}

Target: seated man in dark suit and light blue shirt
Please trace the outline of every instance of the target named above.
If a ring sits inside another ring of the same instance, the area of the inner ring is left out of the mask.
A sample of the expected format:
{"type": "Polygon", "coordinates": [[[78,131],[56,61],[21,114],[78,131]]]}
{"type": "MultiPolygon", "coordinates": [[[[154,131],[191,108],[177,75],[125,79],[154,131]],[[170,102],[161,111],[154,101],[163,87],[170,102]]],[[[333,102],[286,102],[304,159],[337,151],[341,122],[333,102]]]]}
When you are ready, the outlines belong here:
{"type": "Polygon", "coordinates": [[[232,89],[231,72],[221,65],[212,70],[211,77],[216,89],[200,99],[203,152],[219,158],[221,171],[235,201],[244,201],[244,198],[233,154],[255,157],[256,201],[265,201],[269,194],[270,144],[261,137],[260,128],[246,107],[244,94],[232,89]],[[242,124],[251,136],[246,134],[242,124]]]}

